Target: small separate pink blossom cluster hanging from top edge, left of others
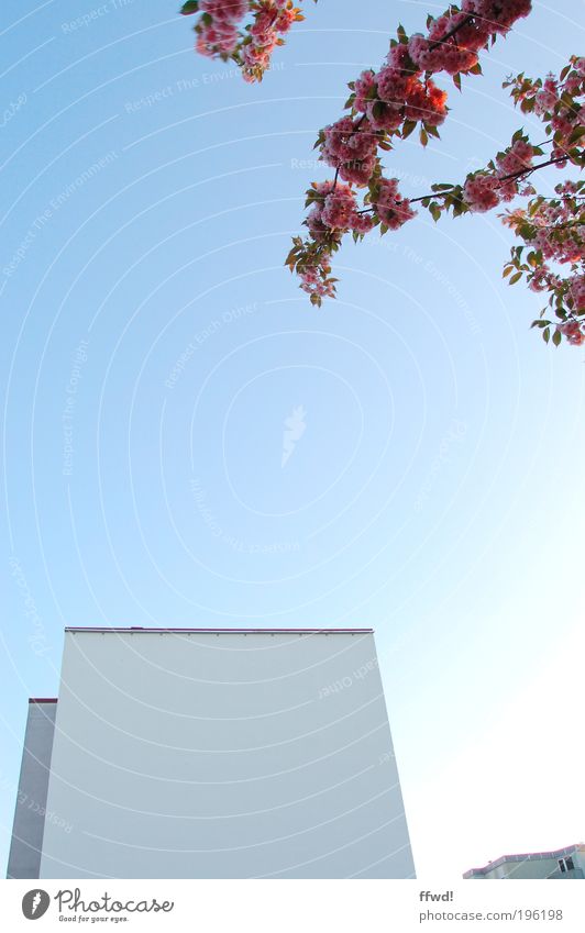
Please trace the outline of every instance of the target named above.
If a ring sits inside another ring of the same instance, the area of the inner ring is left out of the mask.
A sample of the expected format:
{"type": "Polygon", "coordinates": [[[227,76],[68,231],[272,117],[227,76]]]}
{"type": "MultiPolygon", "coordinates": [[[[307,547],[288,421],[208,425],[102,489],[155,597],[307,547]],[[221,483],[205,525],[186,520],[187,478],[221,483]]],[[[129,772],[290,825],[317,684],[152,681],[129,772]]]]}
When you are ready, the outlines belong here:
{"type": "Polygon", "coordinates": [[[292,0],[187,0],[180,12],[199,14],[194,26],[197,52],[233,59],[249,82],[262,81],[283,35],[303,19],[292,0]]]}

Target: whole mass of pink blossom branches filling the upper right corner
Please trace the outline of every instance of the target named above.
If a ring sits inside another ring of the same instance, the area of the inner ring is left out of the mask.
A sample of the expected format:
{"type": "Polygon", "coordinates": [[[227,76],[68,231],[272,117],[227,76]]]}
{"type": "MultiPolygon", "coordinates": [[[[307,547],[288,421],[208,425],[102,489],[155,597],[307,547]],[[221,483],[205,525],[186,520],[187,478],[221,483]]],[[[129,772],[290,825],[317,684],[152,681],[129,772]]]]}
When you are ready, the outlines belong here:
{"type": "MultiPolygon", "coordinates": [[[[433,185],[432,193],[409,199],[398,191],[397,179],[384,176],[382,154],[397,140],[407,138],[417,126],[422,145],[430,136],[439,136],[438,126],[448,113],[446,91],[434,85],[432,76],[446,73],[461,89],[462,75],[481,74],[478,53],[530,9],[530,0],[463,0],[461,9],[451,5],[438,19],[429,18],[426,35],[407,36],[399,26],[382,68],[363,71],[350,84],[349,113],[325,126],[316,143],[319,158],[334,168],[333,180],[313,182],[307,191],[309,234],[294,237],[286,259],[313,304],[335,293],[331,259],[347,233],[358,241],[376,226],[380,234],[397,230],[415,216],[411,206],[416,202],[434,220],[449,211],[454,216],[488,211],[517,196],[536,195],[529,179],[540,169],[583,167],[585,59],[573,56],[559,79],[549,76],[544,82],[532,81],[521,74],[504,85],[511,88],[522,112],[534,112],[543,120],[547,138],[541,145],[552,145],[548,159],[534,164],[543,151],[519,130],[506,149],[486,168],[470,173],[462,185],[433,185]]],[[[581,191],[580,184],[567,181],[556,186],[556,197],[539,196],[526,211],[504,215],[504,222],[529,246],[526,259],[525,246],[514,247],[505,275],[510,284],[526,276],[532,290],[550,292],[550,307],[558,318],[554,343],[563,336],[570,343],[585,343],[581,191]],[[569,263],[570,275],[562,278],[547,259],[569,263]]],[[[548,340],[550,322],[534,323],[548,340]]]]}

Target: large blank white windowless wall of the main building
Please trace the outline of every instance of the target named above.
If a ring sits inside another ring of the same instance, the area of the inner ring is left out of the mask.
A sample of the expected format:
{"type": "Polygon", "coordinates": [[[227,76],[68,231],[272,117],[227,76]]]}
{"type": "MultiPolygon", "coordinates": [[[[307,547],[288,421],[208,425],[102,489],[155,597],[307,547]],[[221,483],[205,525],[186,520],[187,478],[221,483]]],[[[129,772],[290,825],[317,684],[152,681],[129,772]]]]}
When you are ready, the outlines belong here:
{"type": "Polygon", "coordinates": [[[372,634],[67,632],[42,878],[413,874],[372,634]]]}

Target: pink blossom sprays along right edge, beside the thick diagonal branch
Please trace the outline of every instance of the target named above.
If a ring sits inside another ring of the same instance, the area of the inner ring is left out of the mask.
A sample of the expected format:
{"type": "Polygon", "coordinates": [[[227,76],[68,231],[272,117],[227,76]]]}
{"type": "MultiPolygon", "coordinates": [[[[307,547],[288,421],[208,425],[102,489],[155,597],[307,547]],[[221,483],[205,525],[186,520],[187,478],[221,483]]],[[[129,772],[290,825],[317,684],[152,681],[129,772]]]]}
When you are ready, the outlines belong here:
{"type": "Polygon", "coordinates": [[[543,148],[532,146],[519,130],[485,169],[470,174],[463,186],[432,186],[433,196],[422,203],[438,220],[451,209],[454,215],[483,212],[517,195],[530,197],[525,208],[503,214],[504,223],[522,241],[512,247],[504,275],[510,284],[526,277],[532,291],[548,292],[549,303],[533,322],[547,343],[552,335],[555,345],[563,337],[573,345],[585,344],[585,182],[570,179],[556,185],[555,197],[550,198],[531,197],[537,192],[529,181],[548,166],[585,165],[585,59],[572,56],[558,78],[549,75],[544,81],[533,81],[521,74],[504,86],[511,87],[515,103],[525,113],[534,113],[545,124],[550,157],[534,164],[543,148]],[[550,313],[555,321],[547,316],[550,313]]]}

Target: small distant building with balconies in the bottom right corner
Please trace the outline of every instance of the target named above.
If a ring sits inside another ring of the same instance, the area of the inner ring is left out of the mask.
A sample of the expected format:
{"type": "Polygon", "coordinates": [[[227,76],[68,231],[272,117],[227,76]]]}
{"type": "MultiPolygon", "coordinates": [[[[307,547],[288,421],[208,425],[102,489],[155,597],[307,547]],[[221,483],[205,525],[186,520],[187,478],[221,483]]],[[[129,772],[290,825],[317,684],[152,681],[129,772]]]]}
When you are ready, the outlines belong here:
{"type": "Polygon", "coordinates": [[[585,878],[585,845],[569,845],[554,852],[503,855],[483,868],[471,868],[464,878],[585,878]]]}

